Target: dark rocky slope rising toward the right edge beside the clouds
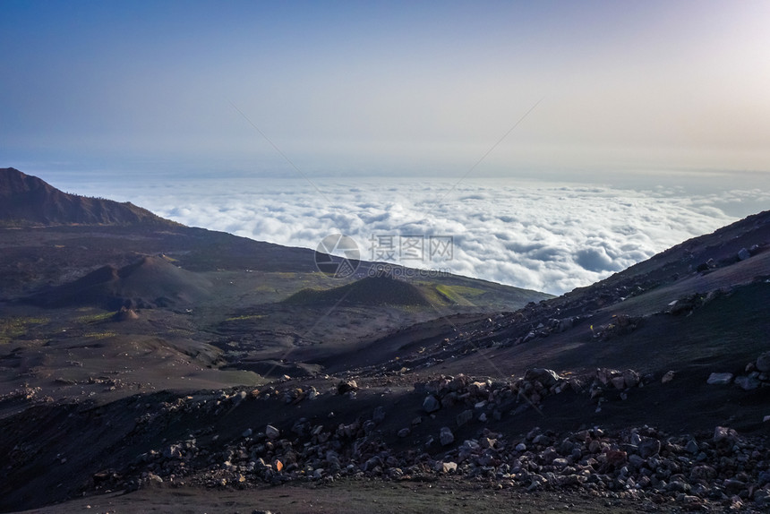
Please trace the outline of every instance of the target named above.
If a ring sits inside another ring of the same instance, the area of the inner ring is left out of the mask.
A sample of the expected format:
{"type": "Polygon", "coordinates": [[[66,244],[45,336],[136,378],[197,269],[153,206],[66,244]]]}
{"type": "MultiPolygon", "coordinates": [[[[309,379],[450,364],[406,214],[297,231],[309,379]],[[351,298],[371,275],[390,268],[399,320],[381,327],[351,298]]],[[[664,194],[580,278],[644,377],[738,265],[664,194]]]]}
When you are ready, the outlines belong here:
{"type": "Polygon", "coordinates": [[[768,243],[770,212],[762,212],[516,313],[426,321],[336,358],[364,376],[473,373],[509,380],[551,369],[574,379],[577,393],[535,400],[544,414],[533,423],[556,430],[570,424],[766,429],[770,373],[757,369],[757,361],[770,351],[768,243]],[[619,373],[640,378],[644,388],[608,385],[607,377],[619,373]],[[712,373],[731,379],[715,386],[708,383],[712,373]]]}

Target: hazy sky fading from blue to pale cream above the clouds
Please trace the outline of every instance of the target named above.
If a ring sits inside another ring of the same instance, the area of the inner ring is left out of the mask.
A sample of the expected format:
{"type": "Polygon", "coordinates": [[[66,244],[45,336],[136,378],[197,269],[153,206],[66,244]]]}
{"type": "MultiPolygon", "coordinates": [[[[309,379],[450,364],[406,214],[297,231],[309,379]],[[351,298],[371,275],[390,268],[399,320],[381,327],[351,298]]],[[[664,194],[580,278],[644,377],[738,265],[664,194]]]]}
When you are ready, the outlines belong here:
{"type": "Polygon", "coordinates": [[[766,173],[768,27],[766,1],[3,0],[0,166],[295,176],[240,110],[308,176],[462,176],[540,101],[474,175],[766,173]]]}

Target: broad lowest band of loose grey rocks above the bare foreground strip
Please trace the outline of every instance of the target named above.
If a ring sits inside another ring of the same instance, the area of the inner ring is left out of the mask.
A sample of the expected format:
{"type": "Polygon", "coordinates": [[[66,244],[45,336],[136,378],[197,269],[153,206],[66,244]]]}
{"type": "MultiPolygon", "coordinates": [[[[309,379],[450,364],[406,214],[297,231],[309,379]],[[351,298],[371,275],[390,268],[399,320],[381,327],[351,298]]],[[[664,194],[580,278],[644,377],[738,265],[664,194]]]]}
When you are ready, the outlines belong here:
{"type": "MultiPolygon", "coordinates": [[[[498,488],[568,489],[654,503],[673,501],[689,510],[708,504],[770,508],[770,452],[764,441],[743,439],[727,427],[678,437],[647,426],[623,433],[593,428],[562,435],[535,429],[513,441],[483,429],[477,438],[461,443],[443,427],[441,448],[449,450],[438,454],[395,452],[380,436],[372,419],[336,427],[300,419],[289,434],[268,425],[264,432],[221,450],[201,448],[193,438],[138,458],[134,484],[189,480],[248,486],[343,476],[421,480],[426,475],[458,475],[481,478],[498,488]]],[[[95,484],[106,476],[95,476],[95,484]]]]}

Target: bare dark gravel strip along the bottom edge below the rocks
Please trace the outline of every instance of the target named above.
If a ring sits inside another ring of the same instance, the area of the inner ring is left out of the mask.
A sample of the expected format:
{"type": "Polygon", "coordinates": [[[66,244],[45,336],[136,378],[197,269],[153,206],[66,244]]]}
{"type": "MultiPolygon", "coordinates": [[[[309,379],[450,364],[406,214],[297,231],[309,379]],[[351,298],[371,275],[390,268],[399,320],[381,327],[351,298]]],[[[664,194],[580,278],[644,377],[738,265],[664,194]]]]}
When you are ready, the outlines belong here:
{"type": "Polygon", "coordinates": [[[653,501],[597,498],[585,493],[526,493],[523,488],[493,489],[489,484],[459,480],[432,483],[343,480],[331,485],[283,484],[249,489],[155,486],[133,493],[90,496],[27,513],[71,514],[104,512],[115,514],[175,512],[199,514],[477,514],[570,512],[618,514],[674,512],[680,507],[653,501]]]}

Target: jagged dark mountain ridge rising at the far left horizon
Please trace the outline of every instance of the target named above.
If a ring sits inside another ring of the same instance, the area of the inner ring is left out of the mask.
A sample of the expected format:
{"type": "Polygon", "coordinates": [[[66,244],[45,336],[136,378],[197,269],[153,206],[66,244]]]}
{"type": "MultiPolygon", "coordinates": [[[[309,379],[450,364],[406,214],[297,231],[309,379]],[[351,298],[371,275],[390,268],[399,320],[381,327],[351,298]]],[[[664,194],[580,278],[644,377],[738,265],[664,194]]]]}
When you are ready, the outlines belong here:
{"type": "Polygon", "coordinates": [[[64,193],[14,167],[0,168],[0,225],[172,224],[132,203],[64,193]]]}

